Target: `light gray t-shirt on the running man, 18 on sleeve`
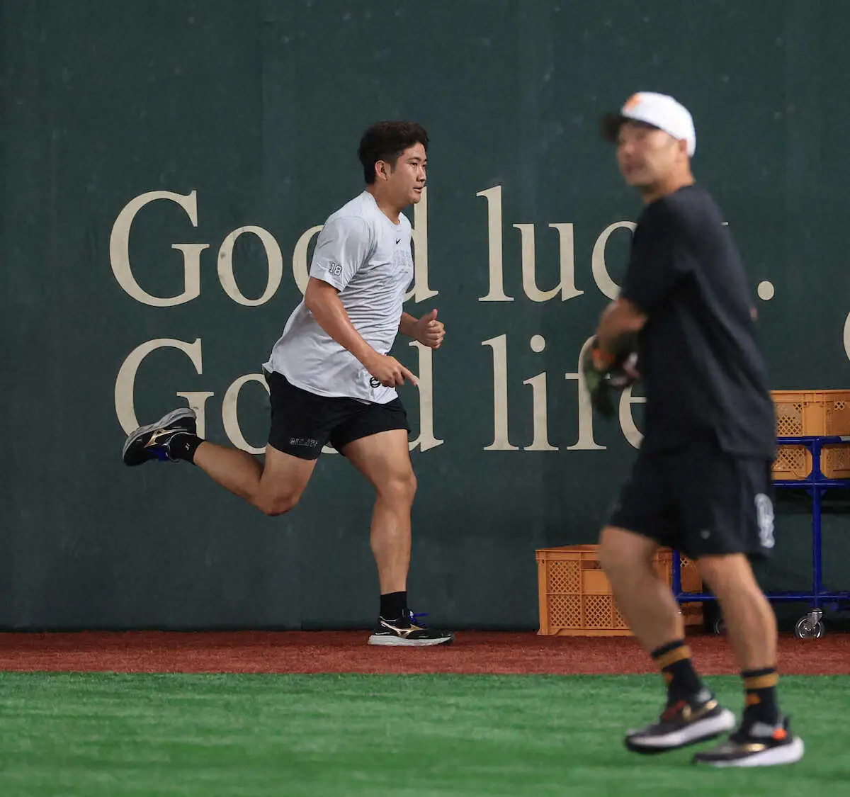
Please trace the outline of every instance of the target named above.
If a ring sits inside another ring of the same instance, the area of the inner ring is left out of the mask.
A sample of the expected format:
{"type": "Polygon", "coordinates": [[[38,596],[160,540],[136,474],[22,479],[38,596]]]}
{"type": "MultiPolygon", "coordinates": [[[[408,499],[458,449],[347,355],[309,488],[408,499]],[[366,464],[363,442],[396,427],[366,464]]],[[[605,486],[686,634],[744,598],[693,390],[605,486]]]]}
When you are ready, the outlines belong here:
{"type": "MultiPolygon", "coordinates": [[[[354,328],[386,354],[399,331],[405,291],[413,279],[411,223],[392,223],[364,191],[326,221],[316,241],[310,276],[333,285],[354,328]]],[[[320,396],[386,404],[397,393],[372,380],[360,360],[324,331],[300,302],[263,366],[295,387],[320,396]],[[377,385],[377,387],[375,387],[377,385]]]]}

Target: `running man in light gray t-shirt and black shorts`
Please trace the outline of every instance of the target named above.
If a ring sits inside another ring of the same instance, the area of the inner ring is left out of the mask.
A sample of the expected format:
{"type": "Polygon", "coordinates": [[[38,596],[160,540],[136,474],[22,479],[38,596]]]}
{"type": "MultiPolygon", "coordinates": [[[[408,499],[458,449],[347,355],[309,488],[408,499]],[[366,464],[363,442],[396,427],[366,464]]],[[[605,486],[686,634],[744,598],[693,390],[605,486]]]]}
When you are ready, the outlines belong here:
{"type": "Polygon", "coordinates": [[[401,332],[439,348],[437,311],[416,319],[402,309],[413,277],[411,223],[401,212],[425,187],[428,135],[415,122],[379,122],[360,140],[365,190],[327,219],[316,241],[303,301],[268,362],[271,424],[265,461],[199,438],[195,413],[173,410],[140,427],[123,461],[193,462],[267,515],[289,512],[303,495],[325,444],[374,486],[371,549],[381,588],[371,645],[450,644],[407,605],[411,557],[411,466],[405,408],[395,388],[416,376],[389,354],[401,332]]]}

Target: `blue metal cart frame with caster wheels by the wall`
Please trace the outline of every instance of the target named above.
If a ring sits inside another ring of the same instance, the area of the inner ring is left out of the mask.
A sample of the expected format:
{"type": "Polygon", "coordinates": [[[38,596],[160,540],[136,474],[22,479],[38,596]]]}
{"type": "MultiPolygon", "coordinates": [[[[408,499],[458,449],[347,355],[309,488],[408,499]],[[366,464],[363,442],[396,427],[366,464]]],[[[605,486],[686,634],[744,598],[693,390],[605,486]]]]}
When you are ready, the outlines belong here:
{"type": "MultiPolygon", "coordinates": [[[[827,436],[805,436],[776,438],[780,445],[804,445],[812,453],[812,472],[807,478],[792,481],[791,479],[775,479],[776,489],[804,489],[812,499],[812,590],[810,592],[768,592],[771,601],[807,602],[808,613],[804,614],[796,623],[796,636],[801,639],[817,639],[824,635],[824,608],[833,608],[839,611],[850,608],[850,591],[835,592],[825,590],[823,584],[823,570],[821,560],[820,540],[820,508],[821,499],[827,490],[850,489],[850,478],[826,478],[820,470],[820,451],[825,445],[850,444],[850,436],[838,437],[827,436]]],[[[707,592],[683,592],[682,571],[679,566],[680,558],[678,551],[673,551],[672,562],[672,590],[678,602],[691,601],[713,601],[715,596],[707,592]]],[[[714,630],[720,633],[723,630],[723,621],[715,621],[714,630]]]]}

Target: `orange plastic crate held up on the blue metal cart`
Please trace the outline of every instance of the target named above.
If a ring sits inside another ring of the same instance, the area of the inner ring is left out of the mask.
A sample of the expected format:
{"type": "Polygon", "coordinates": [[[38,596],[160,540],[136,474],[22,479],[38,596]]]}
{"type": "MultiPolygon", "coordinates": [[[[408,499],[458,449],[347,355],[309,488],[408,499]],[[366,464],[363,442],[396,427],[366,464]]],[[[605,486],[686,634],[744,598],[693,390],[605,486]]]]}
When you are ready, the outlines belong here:
{"type": "MultiPolygon", "coordinates": [[[[850,390],[773,390],[777,437],[850,434],[850,390]]],[[[850,447],[825,446],[820,469],[828,478],[850,478],[850,447]]],[[[812,472],[812,455],[802,445],[780,445],[774,478],[800,480],[812,472]]]]}

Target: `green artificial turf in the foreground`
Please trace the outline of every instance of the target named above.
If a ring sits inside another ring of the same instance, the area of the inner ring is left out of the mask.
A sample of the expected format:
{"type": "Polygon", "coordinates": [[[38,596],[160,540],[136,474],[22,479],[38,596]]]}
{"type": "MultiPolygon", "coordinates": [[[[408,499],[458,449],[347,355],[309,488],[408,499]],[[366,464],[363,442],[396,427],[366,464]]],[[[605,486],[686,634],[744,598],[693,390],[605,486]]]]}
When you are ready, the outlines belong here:
{"type": "MultiPolygon", "coordinates": [[[[740,683],[710,679],[740,710],[740,683]]],[[[785,677],[792,766],[642,757],[657,676],[0,673],[3,797],[850,794],[850,677],[785,677]]]]}

